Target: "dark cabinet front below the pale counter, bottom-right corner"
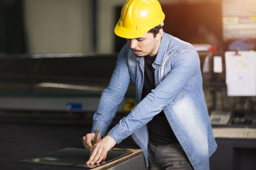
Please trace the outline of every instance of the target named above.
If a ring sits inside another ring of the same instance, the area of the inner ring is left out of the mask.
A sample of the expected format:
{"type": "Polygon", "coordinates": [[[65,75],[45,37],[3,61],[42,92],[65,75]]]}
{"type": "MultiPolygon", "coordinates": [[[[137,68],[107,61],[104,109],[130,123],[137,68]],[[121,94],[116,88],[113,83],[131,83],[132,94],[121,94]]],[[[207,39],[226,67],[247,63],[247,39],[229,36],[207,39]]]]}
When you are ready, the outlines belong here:
{"type": "Polygon", "coordinates": [[[254,170],[256,139],[216,138],[218,148],[210,157],[211,170],[254,170]]]}

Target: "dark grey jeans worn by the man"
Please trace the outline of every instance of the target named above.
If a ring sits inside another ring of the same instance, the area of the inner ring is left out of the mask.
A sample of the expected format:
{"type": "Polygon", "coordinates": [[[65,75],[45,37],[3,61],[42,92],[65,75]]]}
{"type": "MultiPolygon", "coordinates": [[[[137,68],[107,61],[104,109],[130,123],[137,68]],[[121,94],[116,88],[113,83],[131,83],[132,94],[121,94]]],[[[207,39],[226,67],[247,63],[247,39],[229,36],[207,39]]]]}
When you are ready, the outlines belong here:
{"type": "Polygon", "coordinates": [[[148,159],[150,170],[193,169],[179,143],[157,146],[148,143],[148,159]]]}

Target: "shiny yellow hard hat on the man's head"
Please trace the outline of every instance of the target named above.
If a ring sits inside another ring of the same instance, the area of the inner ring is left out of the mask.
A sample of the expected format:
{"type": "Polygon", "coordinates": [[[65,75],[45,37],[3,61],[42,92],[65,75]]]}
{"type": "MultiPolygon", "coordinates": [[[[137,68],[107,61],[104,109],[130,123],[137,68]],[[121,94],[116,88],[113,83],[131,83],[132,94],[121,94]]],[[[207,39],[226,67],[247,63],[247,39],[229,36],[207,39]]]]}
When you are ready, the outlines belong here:
{"type": "Polygon", "coordinates": [[[164,13],[157,0],[128,0],[115,27],[122,38],[139,38],[164,21],[164,13]]]}

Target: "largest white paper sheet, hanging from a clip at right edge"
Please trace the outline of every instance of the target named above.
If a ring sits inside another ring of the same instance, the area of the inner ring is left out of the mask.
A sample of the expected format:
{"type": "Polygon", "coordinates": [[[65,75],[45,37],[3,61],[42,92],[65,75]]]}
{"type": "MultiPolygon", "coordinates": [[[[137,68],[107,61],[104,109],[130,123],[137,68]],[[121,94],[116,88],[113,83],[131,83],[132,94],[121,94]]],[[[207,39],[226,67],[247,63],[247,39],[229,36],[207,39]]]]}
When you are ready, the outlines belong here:
{"type": "Polygon", "coordinates": [[[256,52],[225,52],[228,96],[256,96],[256,52]]]}

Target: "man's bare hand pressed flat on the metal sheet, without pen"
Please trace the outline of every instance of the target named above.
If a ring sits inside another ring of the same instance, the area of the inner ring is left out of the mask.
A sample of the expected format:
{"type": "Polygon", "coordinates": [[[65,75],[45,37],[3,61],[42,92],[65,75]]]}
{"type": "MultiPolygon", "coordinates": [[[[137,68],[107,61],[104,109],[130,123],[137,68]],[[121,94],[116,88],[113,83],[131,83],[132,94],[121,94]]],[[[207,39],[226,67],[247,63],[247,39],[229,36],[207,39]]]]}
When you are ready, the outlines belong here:
{"type": "Polygon", "coordinates": [[[105,160],[107,153],[113,146],[116,145],[116,141],[107,135],[93,146],[92,154],[86,164],[99,164],[101,160],[105,160]]]}

